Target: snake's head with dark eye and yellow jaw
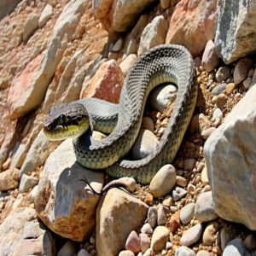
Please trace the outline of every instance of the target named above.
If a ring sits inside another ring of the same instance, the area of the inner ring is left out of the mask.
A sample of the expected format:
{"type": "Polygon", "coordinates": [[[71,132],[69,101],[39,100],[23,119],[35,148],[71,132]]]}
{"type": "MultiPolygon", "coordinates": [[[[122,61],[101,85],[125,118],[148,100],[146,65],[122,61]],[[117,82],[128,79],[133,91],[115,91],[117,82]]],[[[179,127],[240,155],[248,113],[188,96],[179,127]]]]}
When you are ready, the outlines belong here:
{"type": "Polygon", "coordinates": [[[79,137],[90,126],[89,114],[78,102],[61,103],[49,110],[44,121],[44,134],[51,141],[79,137]]]}

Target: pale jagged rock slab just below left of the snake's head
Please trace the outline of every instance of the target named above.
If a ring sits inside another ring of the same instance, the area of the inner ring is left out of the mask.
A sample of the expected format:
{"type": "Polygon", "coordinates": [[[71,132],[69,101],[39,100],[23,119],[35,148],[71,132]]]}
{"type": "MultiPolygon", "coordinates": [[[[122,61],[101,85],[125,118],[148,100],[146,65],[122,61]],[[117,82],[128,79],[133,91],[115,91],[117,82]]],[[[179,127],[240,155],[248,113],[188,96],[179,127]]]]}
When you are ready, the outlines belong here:
{"type": "Polygon", "coordinates": [[[49,140],[44,136],[43,129],[38,133],[38,137],[32,143],[26,154],[26,159],[20,169],[19,177],[28,172],[36,171],[36,167],[44,165],[49,156],[49,140]]]}

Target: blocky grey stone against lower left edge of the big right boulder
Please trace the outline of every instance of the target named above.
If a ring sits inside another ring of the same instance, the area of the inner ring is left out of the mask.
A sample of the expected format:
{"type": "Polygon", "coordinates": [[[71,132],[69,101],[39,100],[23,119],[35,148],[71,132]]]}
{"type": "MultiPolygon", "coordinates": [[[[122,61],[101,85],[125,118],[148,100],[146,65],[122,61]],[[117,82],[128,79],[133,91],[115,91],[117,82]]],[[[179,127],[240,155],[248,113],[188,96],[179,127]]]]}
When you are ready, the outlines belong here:
{"type": "Polygon", "coordinates": [[[202,193],[195,203],[195,218],[201,222],[211,221],[218,218],[214,212],[212,191],[202,193]]]}

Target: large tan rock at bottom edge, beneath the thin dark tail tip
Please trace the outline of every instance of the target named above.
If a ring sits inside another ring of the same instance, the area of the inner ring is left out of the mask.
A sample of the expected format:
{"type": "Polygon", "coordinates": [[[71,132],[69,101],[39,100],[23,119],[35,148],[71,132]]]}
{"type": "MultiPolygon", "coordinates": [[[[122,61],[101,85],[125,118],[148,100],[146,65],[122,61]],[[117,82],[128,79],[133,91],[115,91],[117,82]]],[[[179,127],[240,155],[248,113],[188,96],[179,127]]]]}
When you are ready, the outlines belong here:
{"type": "Polygon", "coordinates": [[[131,230],[143,224],[147,212],[143,201],[120,189],[110,189],[102,196],[96,212],[97,255],[117,255],[131,230]]]}

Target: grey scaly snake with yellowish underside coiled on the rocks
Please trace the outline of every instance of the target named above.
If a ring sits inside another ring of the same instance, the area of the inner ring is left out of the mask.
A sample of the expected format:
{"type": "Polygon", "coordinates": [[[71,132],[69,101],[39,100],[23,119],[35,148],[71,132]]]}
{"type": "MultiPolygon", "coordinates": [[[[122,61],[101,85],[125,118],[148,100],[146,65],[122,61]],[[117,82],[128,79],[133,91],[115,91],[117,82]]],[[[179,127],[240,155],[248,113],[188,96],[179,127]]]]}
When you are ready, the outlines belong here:
{"type": "Polygon", "coordinates": [[[119,103],[83,98],[61,103],[49,111],[44,134],[50,140],[73,137],[79,164],[105,170],[110,177],[134,177],[148,184],[156,172],[171,164],[195,110],[198,85],[189,50],[178,44],[160,44],[137,58],[125,77],[119,103]],[[160,84],[177,86],[172,115],[156,148],[141,160],[125,160],[140,130],[150,91],[160,84]],[[108,137],[95,140],[93,130],[108,137]]]}

